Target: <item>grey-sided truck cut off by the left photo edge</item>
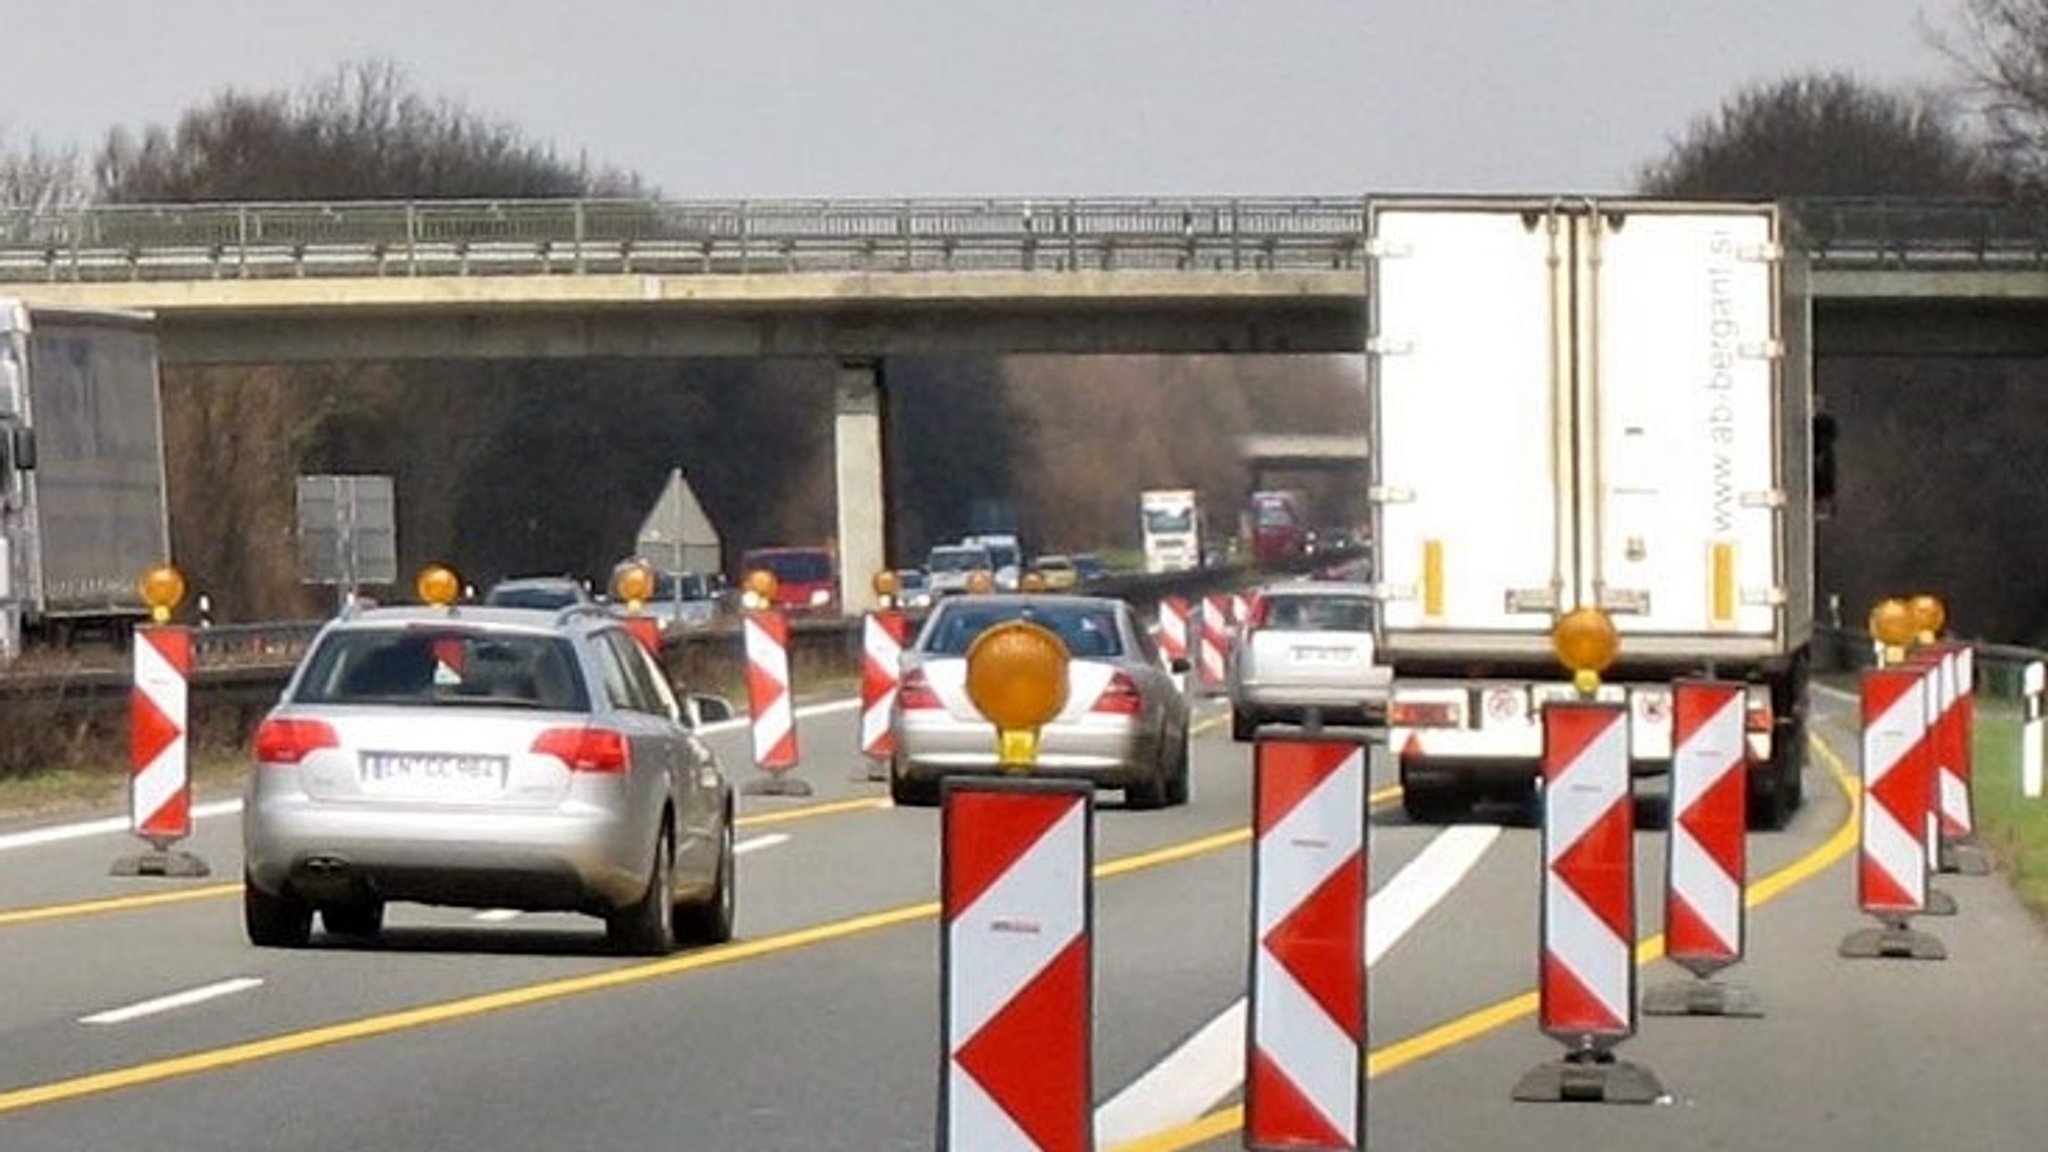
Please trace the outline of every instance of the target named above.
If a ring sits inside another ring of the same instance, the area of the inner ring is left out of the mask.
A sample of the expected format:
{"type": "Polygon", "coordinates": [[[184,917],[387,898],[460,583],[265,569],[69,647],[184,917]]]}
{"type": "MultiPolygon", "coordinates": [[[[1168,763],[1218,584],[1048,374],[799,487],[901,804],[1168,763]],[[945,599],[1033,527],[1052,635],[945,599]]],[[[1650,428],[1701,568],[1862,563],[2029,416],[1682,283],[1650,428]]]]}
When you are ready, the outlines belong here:
{"type": "Polygon", "coordinates": [[[170,560],[156,330],[133,312],[0,299],[0,662],[125,637],[170,560]]]}

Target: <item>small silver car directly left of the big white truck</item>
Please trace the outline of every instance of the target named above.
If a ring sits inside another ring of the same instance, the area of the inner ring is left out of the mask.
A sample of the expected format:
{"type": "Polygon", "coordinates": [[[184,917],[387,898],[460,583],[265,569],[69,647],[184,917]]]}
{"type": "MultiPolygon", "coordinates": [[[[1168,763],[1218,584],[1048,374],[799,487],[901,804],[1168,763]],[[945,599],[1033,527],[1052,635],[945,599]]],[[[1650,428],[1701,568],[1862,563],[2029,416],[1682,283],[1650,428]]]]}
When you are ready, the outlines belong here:
{"type": "Polygon", "coordinates": [[[1260,588],[1229,654],[1231,736],[1303,724],[1311,709],[1325,724],[1386,724],[1393,668],[1374,660],[1372,611],[1368,584],[1260,588]]]}

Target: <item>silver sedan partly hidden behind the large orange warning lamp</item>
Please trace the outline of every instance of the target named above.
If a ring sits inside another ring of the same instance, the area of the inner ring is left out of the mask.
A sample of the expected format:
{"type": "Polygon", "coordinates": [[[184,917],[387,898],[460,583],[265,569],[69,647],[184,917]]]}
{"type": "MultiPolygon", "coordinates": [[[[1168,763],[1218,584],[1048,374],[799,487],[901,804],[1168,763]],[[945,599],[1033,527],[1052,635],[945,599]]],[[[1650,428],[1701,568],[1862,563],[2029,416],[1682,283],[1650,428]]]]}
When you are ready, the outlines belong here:
{"type": "Polygon", "coordinates": [[[989,627],[1026,619],[1065,642],[1067,705],[1038,732],[1032,775],[1122,789],[1130,808],[1188,801],[1188,699],[1130,605],[1106,596],[948,596],[903,652],[891,715],[897,750],[889,793],[938,804],[944,777],[995,775],[995,726],[967,697],[967,648],[989,627]]]}

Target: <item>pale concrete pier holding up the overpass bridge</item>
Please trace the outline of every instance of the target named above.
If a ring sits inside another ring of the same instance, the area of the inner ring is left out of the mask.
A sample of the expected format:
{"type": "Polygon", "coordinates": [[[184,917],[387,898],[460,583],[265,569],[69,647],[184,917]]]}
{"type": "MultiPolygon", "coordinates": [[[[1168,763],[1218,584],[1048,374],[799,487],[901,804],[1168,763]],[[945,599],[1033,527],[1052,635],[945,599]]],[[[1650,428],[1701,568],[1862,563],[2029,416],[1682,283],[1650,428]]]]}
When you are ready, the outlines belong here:
{"type": "Polygon", "coordinates": [[[889,566],[889,480],[883,465],[883,361],[840,361],[834,381],[834,480],[838,482],[840,605],[877,607],[874,574],[889,566]]]}

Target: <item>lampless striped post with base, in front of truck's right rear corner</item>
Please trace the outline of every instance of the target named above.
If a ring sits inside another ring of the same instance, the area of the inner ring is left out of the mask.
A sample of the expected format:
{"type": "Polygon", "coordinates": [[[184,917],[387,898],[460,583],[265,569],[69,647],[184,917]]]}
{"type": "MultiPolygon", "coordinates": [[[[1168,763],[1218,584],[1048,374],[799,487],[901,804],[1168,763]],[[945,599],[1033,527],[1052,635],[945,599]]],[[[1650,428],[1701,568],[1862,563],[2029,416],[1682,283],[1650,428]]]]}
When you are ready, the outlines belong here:
{"type": "Polygon", "coordinates": [[[1749,746],[1743,685],[1671,685],[1665,957],[1694,976],[1642,994],[1653,1017],[1761,1017],[1749,988],[1712,980],[1743,959],[1749,883],[1749,746]]]}

